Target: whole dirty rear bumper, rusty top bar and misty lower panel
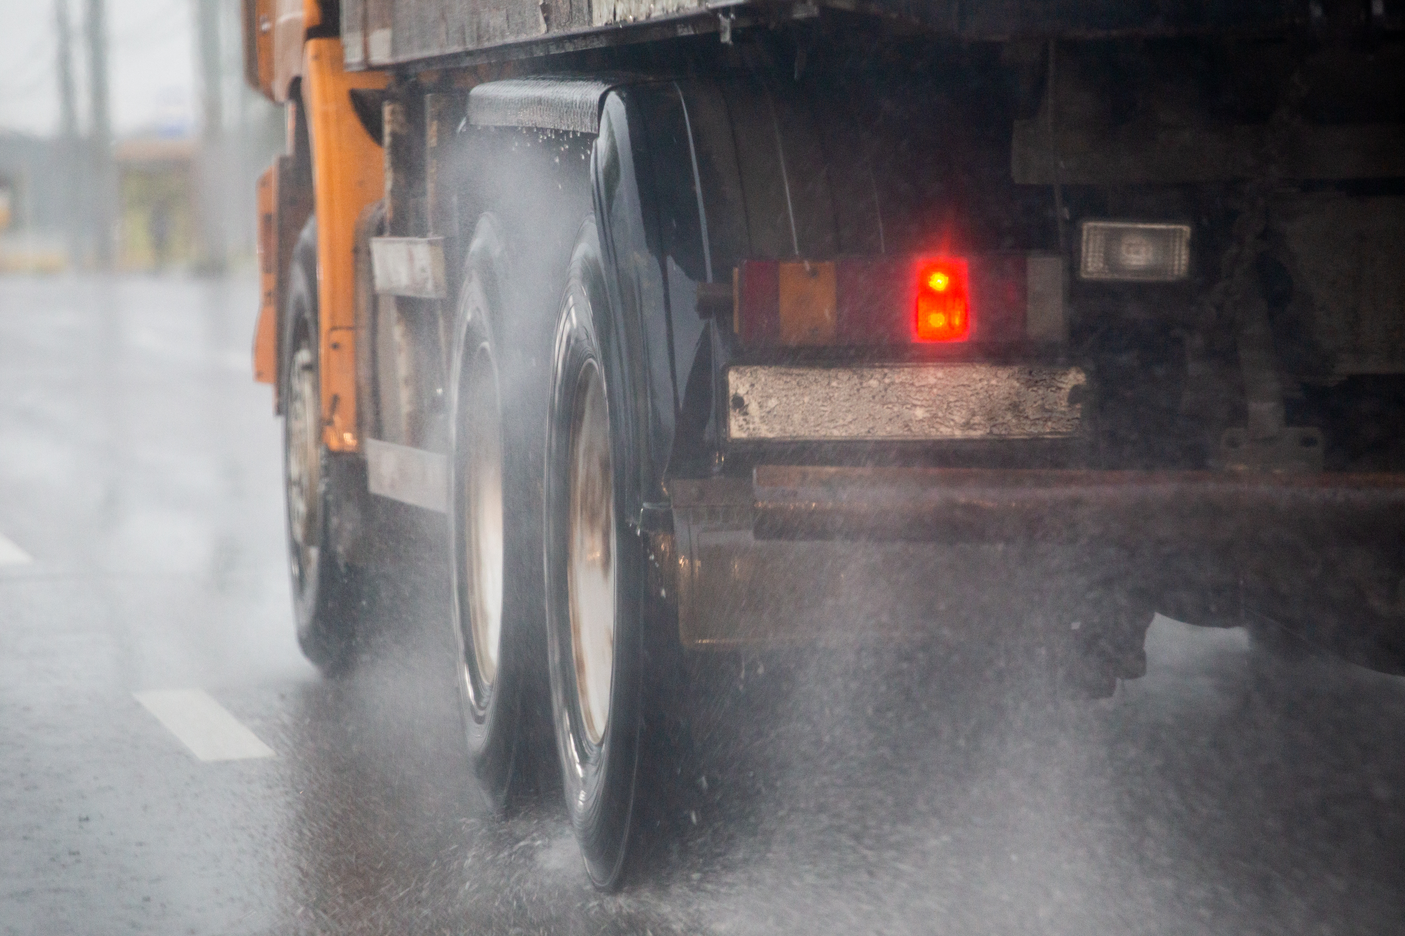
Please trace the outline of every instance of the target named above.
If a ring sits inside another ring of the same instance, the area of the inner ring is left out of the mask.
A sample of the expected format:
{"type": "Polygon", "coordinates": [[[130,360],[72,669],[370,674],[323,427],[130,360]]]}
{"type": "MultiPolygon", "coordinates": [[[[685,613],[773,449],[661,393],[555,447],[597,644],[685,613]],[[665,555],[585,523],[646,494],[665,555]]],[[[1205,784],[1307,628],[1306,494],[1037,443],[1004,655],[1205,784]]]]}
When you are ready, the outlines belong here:
{"type": "Polygon", "coordinates": [[[760,466],[669,493],[693,648],[1248,602],[1405,651],[1402,476],[760,466]]]}

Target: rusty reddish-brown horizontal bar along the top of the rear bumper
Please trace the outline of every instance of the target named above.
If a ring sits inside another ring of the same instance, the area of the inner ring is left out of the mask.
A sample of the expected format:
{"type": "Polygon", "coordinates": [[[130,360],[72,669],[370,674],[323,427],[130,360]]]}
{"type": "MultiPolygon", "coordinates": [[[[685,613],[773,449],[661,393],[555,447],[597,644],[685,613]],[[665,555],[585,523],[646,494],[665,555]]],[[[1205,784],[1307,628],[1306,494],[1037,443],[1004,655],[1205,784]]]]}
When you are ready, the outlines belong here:
{"type": "Polygon", "coordinates": [[[760,539],[1232,543],[1399,532],[1405,476],[762,466],[760,539]]]}

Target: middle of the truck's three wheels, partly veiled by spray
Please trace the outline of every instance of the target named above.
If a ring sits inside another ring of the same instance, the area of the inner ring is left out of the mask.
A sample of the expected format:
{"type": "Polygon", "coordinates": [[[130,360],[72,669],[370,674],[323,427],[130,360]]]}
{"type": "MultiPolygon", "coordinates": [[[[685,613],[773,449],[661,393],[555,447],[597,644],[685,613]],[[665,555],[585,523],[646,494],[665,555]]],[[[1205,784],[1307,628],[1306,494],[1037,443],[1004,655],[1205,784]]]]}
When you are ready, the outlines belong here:
{"type": "MultiPolygon", "coordinates": [[[[528,780],[530,696],[541,695],[540,404],[509,347],[509,264],[483,219],[468,251],[451,379],[450,547],[452,630],[468,754],[495,810],[528,780]],[[516,385],[504,386],[506,379],[516,385]],[[535,557],[535,561],[534,561],[535,557]]],[[[516,295],[516,293],[514,293],[516,295]]],[[[520,326],[520,323],[517,323],[520,326]]],[[[540,366],[540,365],[538,365],[540,366]]],[[[544,380],[542,380],[544,383],[544,380]]],[[[538,394],[542,396],[542,394],[538,394]]]]}

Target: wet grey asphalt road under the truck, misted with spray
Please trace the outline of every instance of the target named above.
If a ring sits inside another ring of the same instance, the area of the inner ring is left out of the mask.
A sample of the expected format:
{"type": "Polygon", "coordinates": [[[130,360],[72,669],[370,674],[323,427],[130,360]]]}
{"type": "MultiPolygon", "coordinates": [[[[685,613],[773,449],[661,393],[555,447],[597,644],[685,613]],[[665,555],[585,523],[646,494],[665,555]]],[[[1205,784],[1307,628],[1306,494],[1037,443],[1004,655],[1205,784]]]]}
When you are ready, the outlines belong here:
{"type": "Polygon", "coordinates": [[[299,657],[254,300],[0,279],[0,932],[1405,929],[1405,681],[1168,619],[1103,702],[937,644],[714,667],[594,892],[551,790],[476,798],[433,554],[355,674],[299,657]],[[274,756],[195,759],[160,689],[274,756]]]}

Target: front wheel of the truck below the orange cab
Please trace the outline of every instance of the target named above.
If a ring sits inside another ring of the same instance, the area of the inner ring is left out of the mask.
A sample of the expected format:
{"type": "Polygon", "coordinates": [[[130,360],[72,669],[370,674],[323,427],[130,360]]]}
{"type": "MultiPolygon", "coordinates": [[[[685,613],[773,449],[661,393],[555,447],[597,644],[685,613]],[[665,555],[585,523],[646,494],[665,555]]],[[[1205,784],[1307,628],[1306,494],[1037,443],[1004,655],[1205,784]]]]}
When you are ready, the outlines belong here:
{"type": "Polygon", "coordinates": [[[330,547],[332,511],[343,491],[336,490],[330,470],[330,460],[340,456],[322,441],[315,225],[308,222],[289,267],[282,344],[284,500],[298,646],[323,674],[339,675],[355,661],[365,573],[340,561],[330,547]]]}

